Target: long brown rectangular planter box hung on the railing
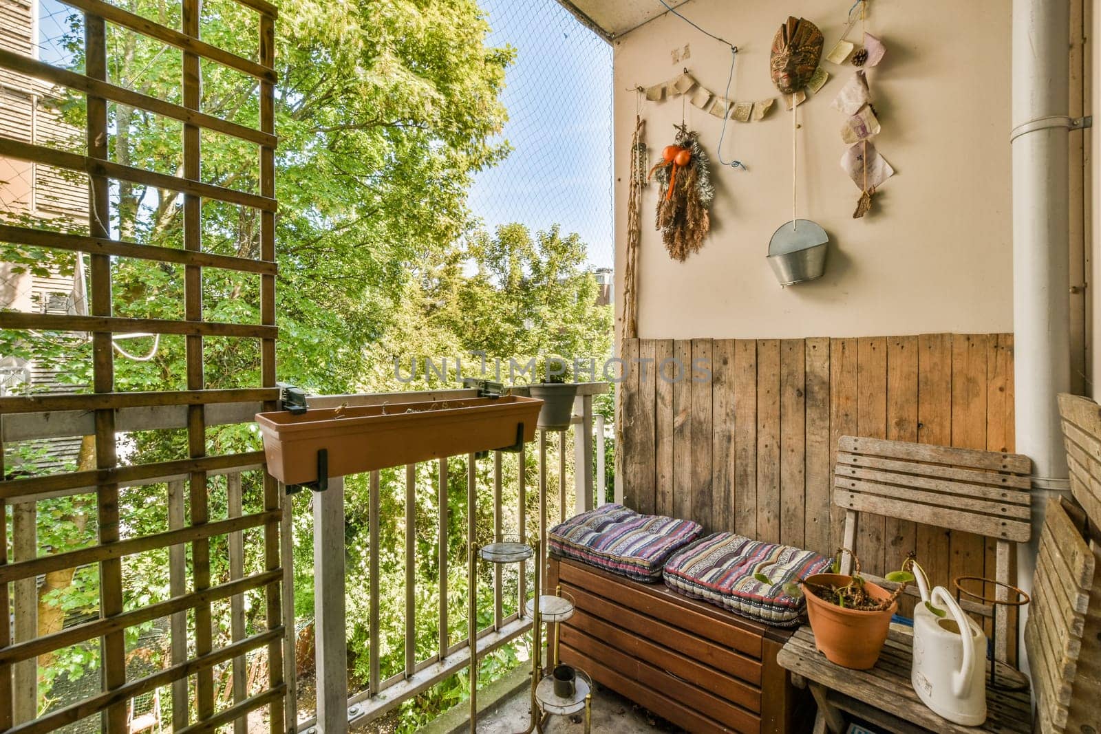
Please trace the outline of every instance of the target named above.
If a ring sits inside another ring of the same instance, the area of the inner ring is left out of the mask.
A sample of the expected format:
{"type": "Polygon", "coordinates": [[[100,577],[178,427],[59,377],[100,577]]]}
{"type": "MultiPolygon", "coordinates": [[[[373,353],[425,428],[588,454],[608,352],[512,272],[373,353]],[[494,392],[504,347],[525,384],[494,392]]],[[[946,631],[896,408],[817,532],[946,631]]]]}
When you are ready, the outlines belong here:
{"type": "Polygon", "coordinates": [[[345,408],[258,413],[268,471],[284,484],[317,480],[317,452],[328,450],[329,476],[492,451],[535,438],[543,401],[471,397],[345,408]]]}

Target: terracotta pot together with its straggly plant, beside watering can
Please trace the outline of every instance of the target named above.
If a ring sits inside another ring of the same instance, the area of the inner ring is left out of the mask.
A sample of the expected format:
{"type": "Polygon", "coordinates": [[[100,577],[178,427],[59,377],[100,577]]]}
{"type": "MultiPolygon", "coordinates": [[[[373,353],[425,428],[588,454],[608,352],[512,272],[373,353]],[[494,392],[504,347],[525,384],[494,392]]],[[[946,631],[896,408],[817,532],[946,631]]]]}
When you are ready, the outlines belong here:
{"type": "Polygon", "coordinates": [[[848,548],[840,548],[832,573],[807,577],[799,582],[802,589],[791,584],[785,591],[806,596],[815,644],[830,662],[866,670],[875,665],[887,639],[898,595],[914,581],[913,567],[911,556],[901,570],[887,573],[885,579],[898,584],[887,591],[860,576],[860,559],[848,548]],[[843,552],[852,556],[852,576],[837,572],[843,552]]]}

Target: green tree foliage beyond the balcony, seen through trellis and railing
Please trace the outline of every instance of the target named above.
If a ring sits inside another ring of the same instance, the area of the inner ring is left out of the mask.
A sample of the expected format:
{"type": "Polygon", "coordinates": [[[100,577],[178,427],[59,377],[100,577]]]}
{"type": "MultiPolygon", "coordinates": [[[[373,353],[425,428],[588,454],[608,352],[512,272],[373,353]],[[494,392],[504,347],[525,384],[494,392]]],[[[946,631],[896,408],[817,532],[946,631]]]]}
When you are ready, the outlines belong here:
{"type": "MultiPolygon", "coordinates": [[[[165,0],[116,0],[113,4],[172,26],[179,26],[179,6],[165,0]]],[[[514,56],[508,47],[486,43],[487,19],[475,0],[282,0],[276,35],[280,84],[275,98],[279,262],[279,379],[324,393],[401,388],[394,380],[395,359],[468,355],[492,358],[543,353],[602,358],[610,351],[611,315],[595,304],[596,283],[586,272],[586,248],[559,227],[532,234],[520,223],[486,232],[467,206],[472,176],[508,154],[500,136],[506,112],[500,101],[504,70],[514,56]]],[[[259,35],[255,14],[231,0],[203,4],[201,35],[216,46],[255,58],[259,35]]],[[[68,66],[83,68],[79,14],[69,17],[64,39],[68,66]]],[[[109,26],[109,76],[113,84],[179,103],[182,55],[143,36],[109,26]]],[[[63,95],[59,114],[83,131],[85,100],[63,95]]],[[[203,64],[200,109],[248,127],[259,124],[258,83],[217,64],[203,64]]],[[[168,174],[182,173],[182,125],[178,122],[110,105],[110,157],[119,163],[168,174]]],[[[56,143],[83,152],[81,132],[56,143]]],[[[201,179],[249,193],[259,191],[258,150],[252,143],[203,133],[201,179]]],[[[112,186],[112,234],[160,247],[183,247],[182,197],[167,189],[116,183],[112,186]]],[[[241,258],[260,256],[259,215],[244,207],[203,202],[203,249],[241,258]]],[[[17,218],[18,219],[18,218],[17,218]]],[[[25,218],[24,218],[25,219],[25,218]]],[[[21,220],[22,221],[22,220],[21,220]]],[[[86,223],[33,221],[37,227],[80,231],[86,223]]],[[[72,254],[0,243],[0,261],[17,269],[73,273],[72,254]]],[[[112,304],[117,316],[183,318],[184,270],[168,263],[115,259],[112,304]]],[[[258,324],[259,277],[205,269],[203,316],[211,321],[258,324]]],[[[90,346],[61,335],[6,333],[0,354],[20,355],[63,368],[74,390],[91,382],[90,346]]],[[[149,361],[116,358],[116,388],[121,391],[183,388],[185,340],[182,337],[131,339],[124,348],[151,352],[149,361]]],[[[205,386],[248,387],[260,384],[260,350],[255,340],[208,338],[204,343],[205,386]]],[[[472,364],[471,361],[469,364],[472,364]]],[[[425,386],[415,383],[410,387],[425,386]]],[[[428,383],[430,384],[430,383],[428,383]]],[[[159,430],[124,437],[123,456],[146,463],[186,456],[182,430],[159,430]]],[[[259,439],[252,426],[208,431],[207,450],[228,453],[252,450],[259,439]]],[[[560,450],[571,449],[560,447],[560,450]]],[[[506,463],[506,486],[525,467],[506,463]]],[[[457,640],[462,634],[464,525],[466,472],[457,462],[451,473],[448,554],[453,562],[450,596],[457,640]]],[[[436,506],[432,467],[417,474],[417,524],[405,528],[404,482],[386,474],[381,497],[380,551],[383,571],[382,655],[388,667],[403,659],[400,647],[399,600],[404,578],[404,534],[416,534],[417,601],[433,603],[439,574],[436,506]]],[[[480,486],[491,483],[488,467],[479,467],[480,486]]],[[[528,476],[528,484],[535,481],[528,476]]],[[[122,493],[124,537],[167,528],[166,487],[154,485],[122,493]]],[[[510,490],[511,492],[511,490],[510,490]]],[[[261,482],[255,472],[243,478],[246,512],[261,508],[261,482]]],[[[369,490],[366,478],[347,485],[346,539],[349,570],[368,558],[369,490]]],[[[513,499],[514,495],[510,495],[513,499]]],[[[513,500],[514,501],[514,500],[513,500]]],[[[308,495],[295,501],[295,615],[299,626],[312,614],[312,525],[308,495]]],[[[228,512],[225,478],[210,482],[210,514],[228,512]]],[[[479,507],[479,527],[492,526],[489,495],[479,507]]],[[[531,508],[535,511],[535,507],[531,508]]],[[[530,512],[528,519],[537,515],[530,512]]],[[[516,518],[513,517],[513,521],[516,518]]],[[[81,495],[39,504],[41,552],[56,552],[95,543],[95,497],[81,495]]],[[[247,536],[259,547],[260,537],[247,536]]],[[[212,582],[229,578],[228,540],[211,540],[212,582]]],[[[248,554],[247,554],[248,555],[248,554]]],[[[290,560],[290,559],[288,559],[290,560]]],[[[141,554],[127,560],[128,609],[163,601],[170,595],[167,552],[141,554]]],[[[261,568],[255,554],[249,569],[261,568]]],[[[483,592],[490,590],[487,583],[483,592]]],[[[348,635],[352,678],[366,676],[364,643],[368,584],[366,574],[350,573],[348,635]]],[[[491,593],[491,592],[490,592],[491,593]]],[[[94,614],[98,577],[81,569],[65,585],[47,590],[43,603],[66,615],[94,614]]],[[[437,600],[438,603],[438,600],[437,600]]],[[[482,609],[491,609],[482,604],[482,609]]],[[[264,604],[250,596],[250,631],[264,622],[264,604]]],[[[228,638],[226,615],[219,634],[228,638]]],[[[422,618],[418,617],[418,625],[422,618]]],[[[132,628],[129,647],[153,623],[132,628]]],[[[190,622],[194,624],[194,620],[190,622]]],[[[430,650],[438,632],[433,615],[418,626],[418,651],[430,650]]],[[[79,678],[98,665],[95,646],[72,648],[43,679],[50,705],[51,684],[58,676],[79,678]]],[[[506,658],[512,653],[503,653],[506,658]]],[[[504,658],[487,665],[505,665],[504,658]],[[502,661],[504,660],[504,661],[502,661]]],[[[151,660],[160,667],[163,659],[151,660]]],[[[225,671],[224,671],[225,672],[225,671]]],[[[448,690],[455,689],[454,681],[448,690]]],[[[437,691],[437,704],[449,693],[437,691]]],[[[410,721],[417,715],[408,713],[410,721]]]]}

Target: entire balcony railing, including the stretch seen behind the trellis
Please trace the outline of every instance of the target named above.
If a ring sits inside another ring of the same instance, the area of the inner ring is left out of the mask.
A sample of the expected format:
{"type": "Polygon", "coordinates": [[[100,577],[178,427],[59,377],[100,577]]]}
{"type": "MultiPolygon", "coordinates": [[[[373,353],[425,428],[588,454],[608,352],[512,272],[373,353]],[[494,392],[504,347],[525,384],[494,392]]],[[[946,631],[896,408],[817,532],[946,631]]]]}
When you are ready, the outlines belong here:
{"type": "MultiPolygon", "coordinates": [[[[535,518],[527,515],[528,505],[534,504],[538,513],[537,527],[539,539],[545,546],[547,528],[556,522],[565,519],[567,515],[603,504],[607,495],[604,484],[603,457],[604,457],[604,430],[603,416],[595,415],[592,409],[592,398],[595,395],[607,392],[607,383],[585,383],[579,385],[578,396],[575,401],[571,431],[574,434],[574,465],[573,487],[567,481],[567,431],[543,431],[539,430],[537,439],[533,445],[524,447],[520,456],[520,467],[525,467],[527,452],[537,451],[537,484],[530,487],[526,485],[525,471],[519,471],[516,481],[517,505],[514,517],[517,521],[520,534],[524,536],[530,523],[535,518]],[[555,436],[557,434],[557,436],[555,436]],[[557,451],[553,449],[557,448],[557,451]],[[557,486],[550,485],[552,473],[548,471],[548,462],[557,460],[557,486]],[[568,510],[569,491],[574,494],[573,512],[568,510]],[[532,492],[536,494],[531,496],[532,492]],[[556,496],[557,502],[548,502],[548,499],[556,496]],[[550,517],[548,508],[556,505],[558,517],[550,517]]],[[[308,399],[310,407],[335,407],[341,403],[350,406],[377,405],[381,403],[401,404],[417,401],[458,399],[472,397],[477,391],[455,390],[435,392],[406,392],[392,394],[357,394],[357,395],[330,395],[314,396],[308,399]]],[[[243,402],[229,403],[225,405],[211,405],[207,408],[207,426],[231,425],[248,423],[252,416],[261,409],[261,403],[243,402]]],[[[116,410],[116,430],[121,432],[142,431],[165,428],[182,428],[186,426],[185,406],[157,406],[157,407],[122,407],[116,410]]],[[[8,441],[9,445],[26,440],[48,439],[67,436],[81,436],[91,428],[91,415],[83,410],[50,410],[42,413],[25,413],[4,416],[0,421],[0,441],[8,441]]],[[[261,588],[264,583],[270,583],[272,571],[247,574],[246,555],[247,539],[246,532],[252,527],[252,518],[257,515],[244,514],[242,512],[242,474],[250,471],[263,470],[262,452],[241,453],[231,457],[211,457],[203,460],[207,476],[225,476],[226,496],[228,502],[227,518],[212,523],[212,525],[225,524],[225,533],[228,536],[229,549],[229,581],[225,584],[214,587],[205,596],[207,601],[229,600],[230,618],[230,645],[211,651],[210,666],[222,666],[232,661],[231,666],[231,690],[235,704],[249,701],[248,680],[246,671],[248,669],[246,654],[258,647],[258,639],[248,636],[246,628],[246,594],[251,589],[261,588]],[[240,529],[235,529],[237,527],[240,529]]],[[[492,462],[492,502],[493,502],[493,527],[477,527],[473,523],[466,524],[467,538],[469,544],[472,537],[499,537],[502,534],[505,506],[503,504],[504,471],[502,471],[502,454],[500,451],[483,459],[484,462],[492,462]],[[491,533],[490,533],[491,529],[491,533]]],[[[122,471],[130,471],[132,478],[120,475],[119,486],[145,487],[152,485],[167,486],[167,519],[168,533],[186,533],[190,526],[186,519],[186,507],[188,502],[187,482],[190,478],[192,464],[195,460],[182,460],[179,462],[163,462],[156,467],[133,467],[123,468],[122,471]],[[178,467],[176,465],[178,464],[178,467]],[[155,471],[154,471],[155,470],[155,471]],[[153,475],[155,474],[155,475],[153,475]]],[[[434,462],[435,463],[435,462],[434,462]]],[[[437,501],[440,507],[447,506],[449,469],[448,459],[438,461],[438,469],[435,474],[437,501]]],[[[468,507],[477,503],[477,473],[478,461],[473,456],[466,457],[467,464],[467,502],[468,507]]],[[[406,526],[413,526],[412,515],[416,511],[415,496],[415,467],[410,465],[405,471],[405,513],[406,526]]],[[[80,475],[83,478],[83,475],[80,475]]],[[[13,559],[15,561],[31,559],[36,556],[35,527],[37,523],[37,503],[44,500],[52,500],[64,496],[94,493],[96,486],[91,484],[94,478],[89,475],[88,485],[83,485],[80,481],[58,481],[57,486],[52,486],[52,480],[35,480],[32,487],[28,487],[25,494],[19,491],[18,485],[6,486],[4,499],[12,504],[12,525],[10,528],[11,543],[13,548],[13,559]],[[77,484],[80,484],[79,486],[77,484]]],[[[288,732],[308,731],[320,728],[326,734],[336,734],[347,730],[349,722],[366,721],[381,716],[393,710],[404,701],[425,691],[435,683],[460,671],[469,665],[470,642],[467,636],[453,642],[448,634],[448,541],[449,538],[447,513],[439,513],[439,525],[437,528],[438,541],[438,563],[439,563],[439,604],[438,610],[430,610],[430,613],[438,613],[439,637],[436,649],[427,657],[417,657],[416,646],[413,644],[416,623],[423,618],[429,610],[417,609],[414,599],[415,563],[410,562],[414,556],[412,546],[412,534],[406,534],[405,547],[405,660],[403,669],[396,675],[386,678],[381,677],[380,665],[380,472],[371,472],[369,478],[370,506],[369,511],[369,547],[370,558],[367,573],[370,577],[370,620],[369,620],[369,656],[370,676],[369,684],[364,690],[350,691],[348,689],[348,660],[347,640],[345,636],[346,613],[345,613],[345,591],[346,573],[345,568],[345,506],[344,506],[344,478],[333,478],[329,489],[315,494],[313,504],[314,519],[314,578],[315,578],[315,639],[316,639],[316,692],[317,692],[317,715],[296,724],[297,719],[297,686],[294,676],[294,661],[296,659],[295,646],[297,636],[295,625],[288,623],[280,632],[284,636],[283,659],[286,661],[286,689],[285,689],[285,721],[288,732]],[[419,616],[418,616],[419,615],[419,616]]],[[[284,496],[281,492],[281,496],[284,496]]],[[[282,571],[275,573],[283,574],[283,609],[288,614],[294,610],[294,566],[293,566],[293,510],[292,502],[284,496],[282,502],[281,521],[281,557],[282,571]]],[[[512,510],[509,508],[511,513],[512,510]]],[[[468,513],[469,517],[475,517],[473,513],[468,513]]],[[[124,521],[126,518],[123,518],[124,521]]],[[[170,540],[176,540],[172,538],[170,540]]],[[[188,560],[187,560],[188,538],[182,538],[178,543],[168,546],[168,585],[170,598],[159,602],[153,606],[161,609],[164,616],[170,616],[170,664],[172,666],[185,665],[188,660],[188,628],[187,614],[194,607],[189,600],[193,593],[188,592],[188,560]],[[185,603],[186,602],[186,603],[185,603]]],[[[361,572],[353,570],[352,572],[361,572]]],[[[505,590],[505,579],[502,578],[500,568],[492,574],[493,578],[493,613],[492,622],[478,633],[478,656],[479,658],[514,640],[531,628],[531,620],[524,614],[524,603],[528,593],[527,569],[521,566],[516,577],[515,591],[505,590]],[[511,600],[509,606],[514,606],[516,611],[504,613],[506,594],[515,593],[515,604],[511,600]]],[[[13,658],[12,673],[15,690],[28,693],[24,697],[20,712],[21,721],[29,721],[35,716],[33,702],[36,699],[34,693],[37,686],[37,660],[33,654],[46,651],[47,638],[37,637],[36,606],[37,588],[33,578],[19,580],[13,584],[13,631],[14,646],[17,649],[26,647],[26,655],[18,655],[18,660],[13,658]],[[37,642],[35,642],[37,639],[37,642]],[[34,648],[32,649],[32,646],[34,648]],[[37,650],[42,647],[42,650],[37,650]]],[[[149,613],[141,612],[142,617],[149,613]]],[[[127,615],[122,615],[126,617],[127,615]]],[[[124,625],[123,621],[118,621],[124,625]]],[[[66,635],[73,640],[92,639],[95,634],[100,632],[98,626],[101,622],[87,623],[87,634],[81,635],[83,626],[66,628],[66,635]],[[96,627],[96,628],[92,628],[96,627]]],[[[465,625],[462,626],[465,628],[465,625]]],[[[268,636],[264,640],[268,642],[268,636]]],[[[14,654],[14,653],[13,653],[14,654]]],[[[142,690],[160,688],[160,684],[151,677],[145,684],[141,683],[142,690]]],[[[143,679],[144,680],[144,679],[143,679]]],[[[161,684],[167,684],[168,681],[161,684]]],[[[186,678],[171,680],[172,686],[172,719],[174,728],[183,728],[187,725],[188,682],[186,678]]],[[[137,689],[135,689],[137,690],[137,689]]],[[[235,721],[235,730],[243,734],[247,722],[243,716],[235,721]]]]}

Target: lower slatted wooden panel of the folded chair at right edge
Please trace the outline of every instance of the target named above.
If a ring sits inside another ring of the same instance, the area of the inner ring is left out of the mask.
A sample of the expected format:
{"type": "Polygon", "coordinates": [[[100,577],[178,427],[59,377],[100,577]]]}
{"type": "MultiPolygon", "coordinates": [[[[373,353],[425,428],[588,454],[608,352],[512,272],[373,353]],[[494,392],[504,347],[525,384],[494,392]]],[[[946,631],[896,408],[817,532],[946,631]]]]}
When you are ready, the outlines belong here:
{"type": "Polygon", "coordinates": [[[1059,501],[1050,500],[1025,623],[1037,723],[1045,734],[1097,731],[1101,695],[1098,552],[1097,544],[1092,549],[1087,545],[1059,501]]]}

